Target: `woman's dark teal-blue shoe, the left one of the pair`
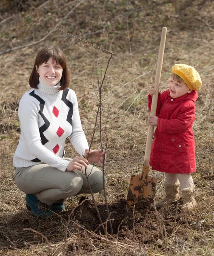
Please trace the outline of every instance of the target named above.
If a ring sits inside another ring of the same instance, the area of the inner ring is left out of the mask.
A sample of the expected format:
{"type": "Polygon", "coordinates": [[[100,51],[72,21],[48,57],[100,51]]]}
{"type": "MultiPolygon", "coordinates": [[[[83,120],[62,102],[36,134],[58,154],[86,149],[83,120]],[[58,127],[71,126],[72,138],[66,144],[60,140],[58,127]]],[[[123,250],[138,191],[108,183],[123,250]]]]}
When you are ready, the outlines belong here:
{"type": "Polygon", "coordinates": [[[34,196],[34,194],[26,194],[27,209],[31,210],[36,217],[47,218],[54,215],[54,212],[47,209],[43,204],[34,196]]]}

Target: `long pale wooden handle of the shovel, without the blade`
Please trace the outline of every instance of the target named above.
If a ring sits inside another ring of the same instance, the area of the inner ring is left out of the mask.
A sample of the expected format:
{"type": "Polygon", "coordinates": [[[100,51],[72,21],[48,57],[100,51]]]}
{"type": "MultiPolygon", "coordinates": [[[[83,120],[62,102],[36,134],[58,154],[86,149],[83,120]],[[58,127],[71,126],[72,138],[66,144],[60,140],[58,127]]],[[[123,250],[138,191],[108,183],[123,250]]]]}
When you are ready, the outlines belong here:
{"type": "MultiPolygon", "coordinates": [[[[165,49],[166,31],[167,31],[167,28],[163,27],[162,35],[161,35],[161,39],[160,39],[160,49],[159,49],[159,54],[158,54],[158,59],[157,59],[155,80],[154,80],[154,89],[155,89],[156,93],[155,93],[155,95],[152,96],[151,112],[150,112],[151,116],[155,116],[156,109],[157,109],[157,98],[158,98],[160,76],[161,76],[161,70],[162,70],[162,64],[163,64],[163,54],[164,54],[164,49],[165,49]]],[[[154,132],[154,126],[148,125],[146,149],[145,149],[144,162],[143,162],[144,166],[149,165],[153,132],[154,132]]]]}

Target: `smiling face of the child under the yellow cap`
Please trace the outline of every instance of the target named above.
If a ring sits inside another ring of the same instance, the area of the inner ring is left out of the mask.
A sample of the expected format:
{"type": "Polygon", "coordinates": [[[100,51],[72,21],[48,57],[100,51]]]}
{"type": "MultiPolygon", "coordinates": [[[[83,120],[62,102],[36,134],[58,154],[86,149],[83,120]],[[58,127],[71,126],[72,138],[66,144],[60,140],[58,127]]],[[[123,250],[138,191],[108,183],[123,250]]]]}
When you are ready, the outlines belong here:
{"type": "Polygon", "coordinates": [[[172,78],[169,81],[168,89],[169,89],[170,96],[172,98],[178,98],[185,95],[186,93],[191,93],[191,90],[185,84],[185,82],[179,83],[178,81],[172,78]]]}

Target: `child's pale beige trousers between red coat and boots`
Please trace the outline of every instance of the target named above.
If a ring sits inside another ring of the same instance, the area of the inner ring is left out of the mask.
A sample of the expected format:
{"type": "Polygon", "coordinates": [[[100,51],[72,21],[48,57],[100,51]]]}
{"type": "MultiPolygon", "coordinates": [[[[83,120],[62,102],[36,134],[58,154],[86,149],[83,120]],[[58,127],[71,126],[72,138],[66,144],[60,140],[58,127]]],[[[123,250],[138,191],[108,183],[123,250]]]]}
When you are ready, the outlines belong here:
{"type": "Polygon", "coordinates": [[[194,190],[194,182],[191,173],[166,173],[166,183],[172,184],[180,182],[180,188],[190,188],[191,191],[194,190]]]}

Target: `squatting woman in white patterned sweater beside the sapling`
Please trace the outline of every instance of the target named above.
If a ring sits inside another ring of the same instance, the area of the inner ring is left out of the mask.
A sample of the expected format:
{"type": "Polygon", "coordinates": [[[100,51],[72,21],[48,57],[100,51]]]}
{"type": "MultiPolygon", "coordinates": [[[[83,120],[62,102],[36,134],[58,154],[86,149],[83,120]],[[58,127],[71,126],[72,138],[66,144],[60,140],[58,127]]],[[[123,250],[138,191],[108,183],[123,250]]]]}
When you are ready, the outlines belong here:
{"type": "Polygon", "coordinates": [[[104,152],[88,150],[69,82],[62,50],[41,49],[29,79],[32,89],[18,109],[21,135],[13,159],[15,182],[26,193],[27,208],[41,218],[65,209],[65,198],[90,193],[85,169],[92,191],[103,190],[103,173],[89,163],[102,166],[104,152]],[[67,137],[80,157],[63,157],[67,137]]]}

